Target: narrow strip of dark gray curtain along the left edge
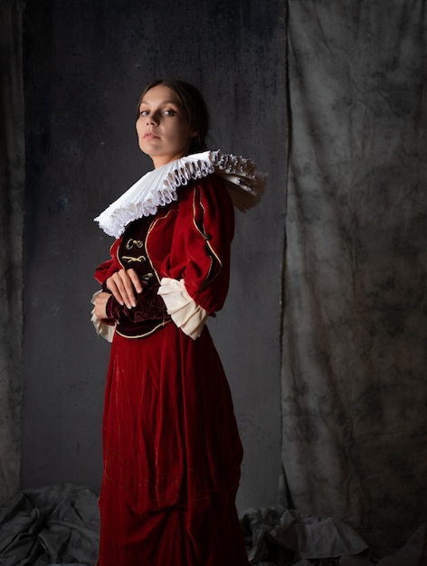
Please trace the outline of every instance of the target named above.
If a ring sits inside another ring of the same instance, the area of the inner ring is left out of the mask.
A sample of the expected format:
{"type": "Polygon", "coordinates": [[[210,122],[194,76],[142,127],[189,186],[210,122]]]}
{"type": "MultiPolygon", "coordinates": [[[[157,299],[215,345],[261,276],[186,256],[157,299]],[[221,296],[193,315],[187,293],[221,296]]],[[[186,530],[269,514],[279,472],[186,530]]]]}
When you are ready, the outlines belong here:
{"type": "Polygon", "coordinates": [[[1,0],[0,505],[20,487],[24,88],[22,2],[1,0]]]}

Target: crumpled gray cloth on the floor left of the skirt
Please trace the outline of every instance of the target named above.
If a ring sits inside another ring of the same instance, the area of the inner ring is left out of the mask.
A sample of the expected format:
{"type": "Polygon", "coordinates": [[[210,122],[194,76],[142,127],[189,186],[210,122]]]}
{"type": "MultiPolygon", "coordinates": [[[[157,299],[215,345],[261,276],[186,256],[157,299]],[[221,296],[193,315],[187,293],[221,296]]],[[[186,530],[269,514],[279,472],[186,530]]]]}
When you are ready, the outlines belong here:
{"type": "Polygon", "coordinates": [[[47,566],[98,559],[98,496],[62,484],[24,490],[0,509],[0,566],[47,566]]]}

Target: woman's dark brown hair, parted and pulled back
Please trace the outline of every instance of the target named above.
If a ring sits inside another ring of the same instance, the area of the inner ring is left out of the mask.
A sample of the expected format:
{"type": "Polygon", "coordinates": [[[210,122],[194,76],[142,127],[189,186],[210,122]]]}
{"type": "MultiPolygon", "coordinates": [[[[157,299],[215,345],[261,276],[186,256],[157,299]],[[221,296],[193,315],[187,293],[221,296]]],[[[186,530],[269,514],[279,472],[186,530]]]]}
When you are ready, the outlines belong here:
{"type": "Polygon", "coordinates": [[[158,85],[163,85],[176,93],[176,96],[180,99],[182,107],[185,110],[190,126],[194,127],[197,132],[197,136],[192,139],[188,149],[188,155],[207,149],[205,139],[209,130],[209,111],[199,90],[197,90],[189,82],[185,82],[185,80],[151,80],[139,97],[137,117],[139,117],[139,107],[142,99],[146,96],[148,90],[151,90],[158,85]]]}

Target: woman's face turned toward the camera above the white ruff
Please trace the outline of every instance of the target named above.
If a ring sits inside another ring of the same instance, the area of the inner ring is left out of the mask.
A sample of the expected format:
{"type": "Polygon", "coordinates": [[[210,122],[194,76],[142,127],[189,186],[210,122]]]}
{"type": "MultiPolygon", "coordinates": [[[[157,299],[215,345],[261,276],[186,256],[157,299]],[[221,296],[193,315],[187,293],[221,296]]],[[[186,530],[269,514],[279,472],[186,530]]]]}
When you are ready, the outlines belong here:
{"type": "Polygon", "coordinates": [[[185,156],[197,136],[176,92],[164,85],[148,90],[141,100],[137,132],[140,149],[156,168],[185,156]]]}

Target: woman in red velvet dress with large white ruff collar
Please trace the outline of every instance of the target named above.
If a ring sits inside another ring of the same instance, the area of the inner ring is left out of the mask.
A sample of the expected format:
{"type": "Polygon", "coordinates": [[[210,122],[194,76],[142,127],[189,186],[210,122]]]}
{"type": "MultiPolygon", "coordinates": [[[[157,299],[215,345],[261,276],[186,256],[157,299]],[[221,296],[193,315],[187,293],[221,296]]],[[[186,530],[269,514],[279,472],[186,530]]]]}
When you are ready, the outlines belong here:
{"type": "Polygon", "coordinates": [[[193,86],[147,85],[140,149],[154,170],[96,219],[117,238],[92,321],[112,338],[103,417],[99,566],[248,564],[235,509],[242,445],[205,321],[223,307],[233,202],[258,202],[255,165],[205,151],[193,86]],[[203,152],[203,153],[196,153],[203,152]]]}

